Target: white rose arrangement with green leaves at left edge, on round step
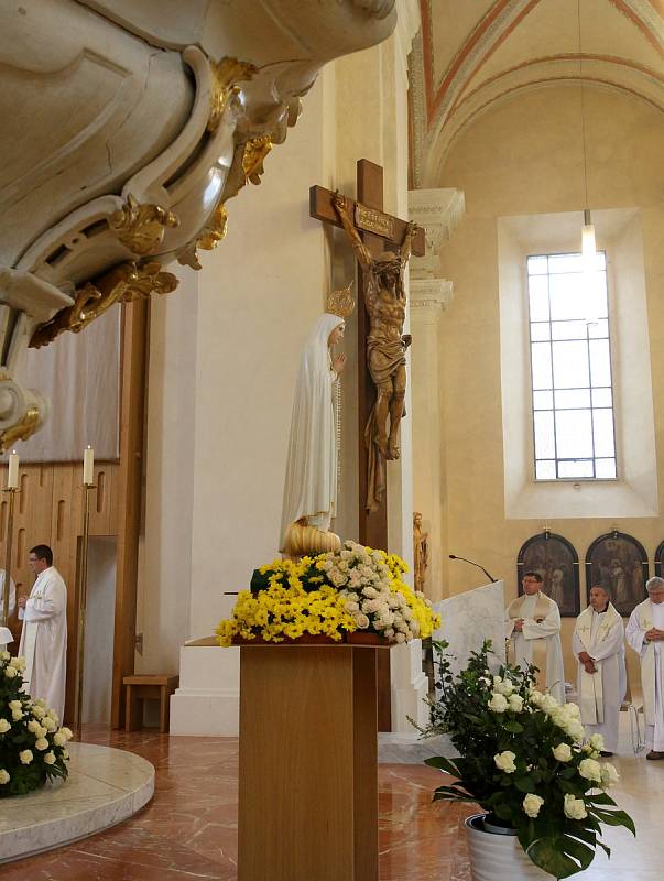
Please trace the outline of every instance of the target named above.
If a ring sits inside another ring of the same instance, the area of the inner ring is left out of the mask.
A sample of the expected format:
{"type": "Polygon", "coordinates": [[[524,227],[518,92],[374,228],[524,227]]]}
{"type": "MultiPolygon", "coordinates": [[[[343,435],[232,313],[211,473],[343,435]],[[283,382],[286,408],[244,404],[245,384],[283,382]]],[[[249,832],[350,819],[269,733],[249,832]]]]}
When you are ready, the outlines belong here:
{"type": "Polygon", "coordinates": [[[43,700],[24,694],[25,661],[0,652],[0,798],[24,795],[68,774],[68,728],[43,700]]]}

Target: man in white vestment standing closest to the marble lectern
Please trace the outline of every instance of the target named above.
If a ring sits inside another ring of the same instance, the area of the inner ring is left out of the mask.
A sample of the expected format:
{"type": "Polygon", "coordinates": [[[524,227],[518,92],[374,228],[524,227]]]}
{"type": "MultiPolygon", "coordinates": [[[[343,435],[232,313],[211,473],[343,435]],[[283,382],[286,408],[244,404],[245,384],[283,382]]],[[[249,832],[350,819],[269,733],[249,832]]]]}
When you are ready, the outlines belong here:
{"type": "Polygon", "coordinates": [[[523,596],[512,600],[505,610],[510,662],[524,670],[529,664],[538,667],[537,686],[545,687],[559,704],[564,704],[560,611],[557,603],[542,592],[540,573],[524,573],[522,585],[523,596]]]}

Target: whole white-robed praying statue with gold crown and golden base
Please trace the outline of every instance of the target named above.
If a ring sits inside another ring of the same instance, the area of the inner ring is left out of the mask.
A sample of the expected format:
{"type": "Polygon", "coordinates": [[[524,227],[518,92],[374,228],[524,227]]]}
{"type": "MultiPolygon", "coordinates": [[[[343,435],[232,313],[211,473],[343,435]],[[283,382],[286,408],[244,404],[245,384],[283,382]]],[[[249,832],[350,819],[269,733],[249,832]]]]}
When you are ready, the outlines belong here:
{"type": "Polygon", "coordinates": [[[297,372],[279,550],[287,556],[320,554],[341,546],[330,532],[336,516],[338,415],[336,387],[346,356],[333,357],[355,307],[350,285],[334,292],[309,335],[297,372]]]}

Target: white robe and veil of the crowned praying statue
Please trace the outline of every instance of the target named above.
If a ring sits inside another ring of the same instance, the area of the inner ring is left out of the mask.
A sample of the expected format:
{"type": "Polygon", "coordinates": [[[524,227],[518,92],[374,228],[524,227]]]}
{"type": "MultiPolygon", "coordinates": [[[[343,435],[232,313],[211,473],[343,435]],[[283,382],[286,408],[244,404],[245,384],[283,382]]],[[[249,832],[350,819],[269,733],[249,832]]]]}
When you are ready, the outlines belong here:
{"type": "Polygon", "coordinates": [[[284,550],[291,523],[329,530],[337,504],[337,437],[329,335],[344,324],[338,315],[322,315],[306,341],[291,418],[286,480],[279,548],[284,550]]]}

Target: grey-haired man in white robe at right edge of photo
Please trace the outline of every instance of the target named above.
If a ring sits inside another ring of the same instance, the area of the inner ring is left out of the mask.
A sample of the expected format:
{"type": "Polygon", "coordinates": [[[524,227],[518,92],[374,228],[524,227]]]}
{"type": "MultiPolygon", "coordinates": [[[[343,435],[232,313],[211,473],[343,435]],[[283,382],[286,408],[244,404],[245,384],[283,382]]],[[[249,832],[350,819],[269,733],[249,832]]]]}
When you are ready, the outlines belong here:
{"type": "Polygon", "coordinates": [[[647,599],[630,616],[627,641],[641,659],[641,685],[645,715],[646,759],[664,759],[664,578],[651,578],[645,585],[647,599]]]}

